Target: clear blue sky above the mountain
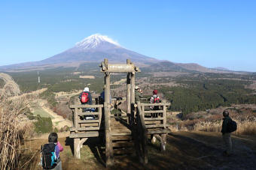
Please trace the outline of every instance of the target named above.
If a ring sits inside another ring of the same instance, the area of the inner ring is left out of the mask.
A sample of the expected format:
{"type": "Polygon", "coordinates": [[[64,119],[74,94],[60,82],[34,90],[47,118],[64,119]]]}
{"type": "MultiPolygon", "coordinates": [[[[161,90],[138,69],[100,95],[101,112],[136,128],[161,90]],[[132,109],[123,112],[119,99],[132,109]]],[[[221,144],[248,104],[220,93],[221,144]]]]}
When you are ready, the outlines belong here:
{"type": "Polygon", "coordinates": [[[96,33],[154,58],[256,72],[256,1],[0,1],[0,65],[96,33]]]}

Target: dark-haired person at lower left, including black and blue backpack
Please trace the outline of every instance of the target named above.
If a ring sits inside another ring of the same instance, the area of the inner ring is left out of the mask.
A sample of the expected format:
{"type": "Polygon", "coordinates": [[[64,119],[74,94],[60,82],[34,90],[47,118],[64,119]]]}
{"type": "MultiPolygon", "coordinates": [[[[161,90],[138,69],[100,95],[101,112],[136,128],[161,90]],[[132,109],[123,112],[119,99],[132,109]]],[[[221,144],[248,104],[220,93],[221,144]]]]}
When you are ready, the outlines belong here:
{"type": "Polygon", "coordinates": [[[48,142],[41,146],[41,166],[43,169],[62,170],[59,152],[63,151],[63,147],[58,142],[58,134],[50,133],[48,142]]]}

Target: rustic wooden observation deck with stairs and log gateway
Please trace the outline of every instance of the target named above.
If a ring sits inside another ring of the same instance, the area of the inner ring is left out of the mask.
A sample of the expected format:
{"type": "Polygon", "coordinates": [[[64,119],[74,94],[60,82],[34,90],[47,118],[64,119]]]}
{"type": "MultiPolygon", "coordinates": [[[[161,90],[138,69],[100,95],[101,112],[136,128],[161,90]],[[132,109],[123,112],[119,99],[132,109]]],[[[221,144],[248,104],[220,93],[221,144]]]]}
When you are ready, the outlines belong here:
{"type": "Polygon", "coordinates": [[[140,72],[127,59],[126,64],[108,64],[105,59],[101,64],[105,73],[105,100],[102,104],[73,105],[73,126],[70,138],[74,139],[74,154],[81,157],[80,149],[91,137],[105,139],[106,166],[114,163],[114,157],[120,154],[136,153],[141,163],[148,163],[147,144],[155,139],[161,143],[161,151],[166,150],[166,107],[170,103],[140,103],[135,101],[135,73],[140,72]],[[126,97],[118,97],[110,102],[111,73],[127,73],[126,97]],[[126,110],[120,104],[126,101],[126,110]],[[150,109],[154,107],[154,109],[150,109]],[[95,112],[85,109],[94,108],[95,112]],[[117,109],[119,113],[111,114],[117,109]]]}

